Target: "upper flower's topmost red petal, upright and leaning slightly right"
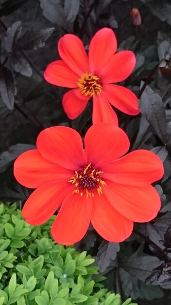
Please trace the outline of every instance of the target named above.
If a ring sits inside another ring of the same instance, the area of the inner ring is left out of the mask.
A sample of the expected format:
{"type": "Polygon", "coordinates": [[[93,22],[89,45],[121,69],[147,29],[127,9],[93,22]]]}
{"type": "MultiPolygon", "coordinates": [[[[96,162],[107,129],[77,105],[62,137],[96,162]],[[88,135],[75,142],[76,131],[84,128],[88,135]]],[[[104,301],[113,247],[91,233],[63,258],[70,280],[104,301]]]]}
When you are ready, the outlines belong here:
{"type": "Polygon", "coordinates": [[[89,45],[89,65],[91,73],[100,73],[117,49],[117,39],[111,29],[103,28],[91,39],[89,45]]]}

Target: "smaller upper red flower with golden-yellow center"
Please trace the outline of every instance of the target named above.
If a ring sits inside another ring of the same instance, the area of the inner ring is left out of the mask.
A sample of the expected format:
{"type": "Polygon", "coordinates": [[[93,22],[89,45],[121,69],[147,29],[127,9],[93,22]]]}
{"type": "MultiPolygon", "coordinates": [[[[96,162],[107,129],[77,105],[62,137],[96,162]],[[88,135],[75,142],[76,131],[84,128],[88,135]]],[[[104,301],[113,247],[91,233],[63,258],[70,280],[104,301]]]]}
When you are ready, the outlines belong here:
{"type": "Polygon", "coordinates": [[[113,85],[126,79],[136,65],[131,51],[116,53],[117,40],[111,29],[103,28],[91,39],[88,57],[82,41],[66,34],[59,39],[58,51],[62,60],[53,61],[45,70],[45,79],[53,85],[73,88],[63,96],[63,107],[70,119],[76,118],[93,97],[93,124],[118,124],[110,106],[136,115],[137,96],[129,89],[113,85]]]}

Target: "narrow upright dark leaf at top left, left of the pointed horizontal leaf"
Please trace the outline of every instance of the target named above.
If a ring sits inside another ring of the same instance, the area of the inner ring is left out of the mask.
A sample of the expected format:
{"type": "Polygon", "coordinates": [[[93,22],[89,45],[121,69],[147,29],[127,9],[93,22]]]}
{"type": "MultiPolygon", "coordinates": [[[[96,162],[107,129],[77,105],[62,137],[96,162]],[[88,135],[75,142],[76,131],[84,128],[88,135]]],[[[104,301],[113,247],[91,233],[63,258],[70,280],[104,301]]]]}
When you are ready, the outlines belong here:
{"type": "Polygon", "coordinates": [[[8,53],[12,53],[13,45],[21,32],[21,28],[21,21],[17,21],[7,29],[6,36],[4,37],[4,45],[8,53]]]}

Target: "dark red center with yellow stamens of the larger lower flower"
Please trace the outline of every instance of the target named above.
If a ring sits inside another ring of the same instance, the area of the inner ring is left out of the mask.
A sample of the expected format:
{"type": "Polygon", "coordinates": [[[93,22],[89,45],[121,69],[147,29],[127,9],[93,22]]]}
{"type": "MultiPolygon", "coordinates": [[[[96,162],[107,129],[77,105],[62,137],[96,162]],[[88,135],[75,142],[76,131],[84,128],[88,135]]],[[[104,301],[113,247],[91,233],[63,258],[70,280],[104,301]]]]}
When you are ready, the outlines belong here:
{"type": "Polygon", "coordinates": [[[75,185],[73,193],[80,194],[82,197],[86,195],[94,197],[94,191],[97,191],[99,196],[103,194],[102,186],[107,186],[106,183],[101,179],[101,171],[93,168],[89,163],[81,171],[75,171],[75,176],[71,177],[68,182],[75,185]]]}

